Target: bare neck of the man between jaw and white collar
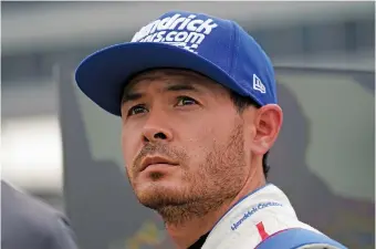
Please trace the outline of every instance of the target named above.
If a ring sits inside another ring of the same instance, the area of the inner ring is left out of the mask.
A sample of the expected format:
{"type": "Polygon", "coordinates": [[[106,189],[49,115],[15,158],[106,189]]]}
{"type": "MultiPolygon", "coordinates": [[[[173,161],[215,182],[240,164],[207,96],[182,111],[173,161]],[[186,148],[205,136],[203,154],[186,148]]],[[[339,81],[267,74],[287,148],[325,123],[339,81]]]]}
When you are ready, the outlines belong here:
{"type": "Polygon", "coordinates": [[[207,214],[205,217],[197,217],[179,225],[166,225],[167,232],[179,249],[187,249],[195,243],[201,236],[209,232],[215,224],[242,197],[252,190],[265,185],[265,180],[248,181],[238,195],[227,203],[223,203],[217,210],[207,214]]]}

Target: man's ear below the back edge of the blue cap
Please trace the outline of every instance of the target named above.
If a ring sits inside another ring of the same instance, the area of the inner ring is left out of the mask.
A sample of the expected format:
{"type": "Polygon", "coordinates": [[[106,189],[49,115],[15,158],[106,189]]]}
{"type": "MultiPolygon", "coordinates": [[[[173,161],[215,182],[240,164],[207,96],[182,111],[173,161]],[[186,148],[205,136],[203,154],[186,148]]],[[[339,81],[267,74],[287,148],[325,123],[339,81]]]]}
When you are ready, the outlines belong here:
{"type": "Polygon", "coordinates": [[[268,104],[258,108],[253,116],[252,152],[265,154],[276,141],[283,122],[282,108],[276,104],[268,104]]]}

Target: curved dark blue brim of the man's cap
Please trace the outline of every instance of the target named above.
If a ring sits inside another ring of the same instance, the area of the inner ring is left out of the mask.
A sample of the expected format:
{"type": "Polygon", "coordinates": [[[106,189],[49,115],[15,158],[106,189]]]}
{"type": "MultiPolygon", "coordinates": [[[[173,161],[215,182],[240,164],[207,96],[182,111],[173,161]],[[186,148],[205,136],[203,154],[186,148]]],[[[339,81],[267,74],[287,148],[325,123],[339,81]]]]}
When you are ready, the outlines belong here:
{"type": "Polygon", "coordinates": [[[230,75],[205,58],[182,48],[155,42],[123,43],[101,50],[79,65],[75,80],[92,101],[121,116],[126,81],[135,73],[155,68],[192,70],[238,93],[243,92],[230,75]]]}

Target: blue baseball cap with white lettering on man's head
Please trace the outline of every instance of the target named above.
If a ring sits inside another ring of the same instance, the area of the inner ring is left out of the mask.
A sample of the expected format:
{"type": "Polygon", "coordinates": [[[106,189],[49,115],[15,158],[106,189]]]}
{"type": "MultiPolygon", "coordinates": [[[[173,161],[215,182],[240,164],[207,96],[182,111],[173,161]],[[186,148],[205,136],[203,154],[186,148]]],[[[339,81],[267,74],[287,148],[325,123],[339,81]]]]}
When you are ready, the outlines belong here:
{"type": "Polygon", "coordinates": [[[274,70],[255,40],[233,21],[186,11],[167,12],[130,42],[88,55],[75,80],[94,103],[121,116],[129,79],[160,68],[198,72],[261,106],[276,103],[274,70]]]}

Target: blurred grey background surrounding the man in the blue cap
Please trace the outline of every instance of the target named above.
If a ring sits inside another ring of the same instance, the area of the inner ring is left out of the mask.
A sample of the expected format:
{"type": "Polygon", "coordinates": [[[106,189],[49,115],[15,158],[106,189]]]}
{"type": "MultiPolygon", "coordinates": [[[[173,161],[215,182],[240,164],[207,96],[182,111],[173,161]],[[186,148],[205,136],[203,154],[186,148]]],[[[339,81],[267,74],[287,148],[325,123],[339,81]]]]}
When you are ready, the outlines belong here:
{"type": "Polygon", "coordinates": [[[121,122],[73,74],[169,10],[238,21],[275,65],[270,181],[299,217],[375,248],[375,2],[1,2],[1,177],[64,211],[83,249],[173,248],[126,179],[121,122]]]}

